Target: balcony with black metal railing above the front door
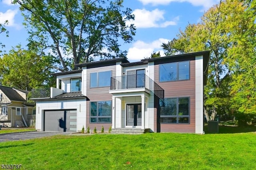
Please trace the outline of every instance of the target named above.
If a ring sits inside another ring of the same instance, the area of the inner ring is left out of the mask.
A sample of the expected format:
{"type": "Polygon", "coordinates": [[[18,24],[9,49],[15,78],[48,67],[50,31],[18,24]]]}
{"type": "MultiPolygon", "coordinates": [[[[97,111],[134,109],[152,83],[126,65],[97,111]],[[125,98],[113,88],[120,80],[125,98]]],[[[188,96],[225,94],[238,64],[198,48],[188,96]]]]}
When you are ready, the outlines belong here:
{"type": "Polygon", "coordinates": [[[110,93],[130,91],[152,91],[158,98],[164,98],[164,89],[145,74],[111,77],[110,93]]]}

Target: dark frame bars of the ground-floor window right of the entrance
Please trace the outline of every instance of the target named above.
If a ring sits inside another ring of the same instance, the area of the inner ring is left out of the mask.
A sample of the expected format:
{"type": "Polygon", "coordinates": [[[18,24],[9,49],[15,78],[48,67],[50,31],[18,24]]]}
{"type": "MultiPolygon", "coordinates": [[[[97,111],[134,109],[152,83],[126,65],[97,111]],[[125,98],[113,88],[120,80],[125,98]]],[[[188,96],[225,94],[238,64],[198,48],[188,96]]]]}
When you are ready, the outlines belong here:
{"type": "MultiPolygon", "coordinates": [[[[176,100],[176,115],[161,115],[161,113],[159,113],[160,118],[161,117],[175,117],[177,119],[177,122],[176,123],[163,123],[163,122],[160,122],[160,119],[159,119],[160,124],[185,124],[185,125],[190,124],[190,97],[188,97],[188,96],[168,97],[168,98],[164,98],[164,99],[177,99],[176,100]],[[179,98],[188,98],[188,115],[182,115],[182,116],[179,115],[179,98]],[[188,123],[179,123],[179,118],[180,117],[188,117],[188,123]]],[[[160,101],[159,101],[159,110],[160,110],[160,108],[161,107],[160,107],[160,101]]]]}

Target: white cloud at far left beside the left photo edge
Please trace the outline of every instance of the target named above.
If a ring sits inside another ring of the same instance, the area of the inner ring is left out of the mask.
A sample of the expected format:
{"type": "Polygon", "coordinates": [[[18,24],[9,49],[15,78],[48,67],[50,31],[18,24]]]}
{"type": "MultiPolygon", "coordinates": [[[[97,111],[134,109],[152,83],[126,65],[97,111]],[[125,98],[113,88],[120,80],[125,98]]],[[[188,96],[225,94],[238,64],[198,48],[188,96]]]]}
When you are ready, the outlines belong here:
{"type": "Polygon", "coordinates": [[[20,25],[14,22],[14,17],[18,13],[18,10],[7,10],[5,13],[0,12],[0,23],[3,24],[8,20],[9,27],[16,27],[18,30],[21,28],[20,25]]]}

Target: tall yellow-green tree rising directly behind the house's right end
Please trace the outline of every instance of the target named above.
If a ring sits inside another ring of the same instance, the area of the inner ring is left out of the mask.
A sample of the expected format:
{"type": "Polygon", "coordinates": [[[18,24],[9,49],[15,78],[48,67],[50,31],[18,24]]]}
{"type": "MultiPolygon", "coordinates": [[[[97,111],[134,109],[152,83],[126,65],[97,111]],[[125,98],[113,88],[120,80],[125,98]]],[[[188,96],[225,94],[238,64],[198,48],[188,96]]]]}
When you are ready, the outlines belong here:
{"type": "Polygon", "coordinates": [[[239,30],[249,29],[244,17],[247,7],[239,0],[220,1],[204,13],[200,23],[188,24],[176,39],[162,45],[167,54],[211,50],[208,83],[204,88],[207,119],[214,120],[223,108],[231,109],[228,107],[232,81],[229,51],[237,46],[237,37],[242,34],[239,30]]]}

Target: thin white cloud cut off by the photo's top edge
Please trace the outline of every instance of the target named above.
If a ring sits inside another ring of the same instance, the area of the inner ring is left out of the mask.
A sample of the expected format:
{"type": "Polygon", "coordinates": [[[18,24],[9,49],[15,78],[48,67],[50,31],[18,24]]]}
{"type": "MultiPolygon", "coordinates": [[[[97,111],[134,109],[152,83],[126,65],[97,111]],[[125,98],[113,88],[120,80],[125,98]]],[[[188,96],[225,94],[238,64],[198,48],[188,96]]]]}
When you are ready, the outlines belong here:
{"type": "Polygon", "coordinates": [[[143,5],[152,4],[153,6],[157,5],[168,5],[170,2],[188,2],[193,6],[203,6],[204,10],[207,10],[214,4],[217,4],[219,0],[138,0],[143,5]]]}

